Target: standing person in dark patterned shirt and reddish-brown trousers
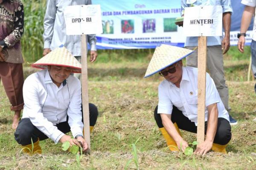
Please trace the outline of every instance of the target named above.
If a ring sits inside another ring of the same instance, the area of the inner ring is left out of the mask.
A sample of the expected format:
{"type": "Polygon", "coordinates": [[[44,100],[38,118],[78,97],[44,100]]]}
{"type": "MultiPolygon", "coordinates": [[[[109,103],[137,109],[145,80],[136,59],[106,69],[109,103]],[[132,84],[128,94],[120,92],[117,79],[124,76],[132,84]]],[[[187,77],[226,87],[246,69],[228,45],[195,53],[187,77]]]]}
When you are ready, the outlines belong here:
{"type": "Polygon", "coordinates": [[[24,11],[20,0],[0,0],[0,79],[15,111],[12,128],[16,129],[23,109],[23,58],[20,38],[24,11]]]}

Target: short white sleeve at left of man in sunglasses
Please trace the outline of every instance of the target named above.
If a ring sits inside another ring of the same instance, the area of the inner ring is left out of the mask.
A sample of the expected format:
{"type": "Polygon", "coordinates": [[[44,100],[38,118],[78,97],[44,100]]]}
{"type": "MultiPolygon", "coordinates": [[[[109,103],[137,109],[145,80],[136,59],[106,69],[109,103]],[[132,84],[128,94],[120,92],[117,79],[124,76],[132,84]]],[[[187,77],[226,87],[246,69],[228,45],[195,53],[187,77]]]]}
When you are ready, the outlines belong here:
{"type": "Polygon", "coordinates": [[[157,113],[172,114],[172,101],[167,94],[164,82],[158,86],[158,110],[157,113]]]}

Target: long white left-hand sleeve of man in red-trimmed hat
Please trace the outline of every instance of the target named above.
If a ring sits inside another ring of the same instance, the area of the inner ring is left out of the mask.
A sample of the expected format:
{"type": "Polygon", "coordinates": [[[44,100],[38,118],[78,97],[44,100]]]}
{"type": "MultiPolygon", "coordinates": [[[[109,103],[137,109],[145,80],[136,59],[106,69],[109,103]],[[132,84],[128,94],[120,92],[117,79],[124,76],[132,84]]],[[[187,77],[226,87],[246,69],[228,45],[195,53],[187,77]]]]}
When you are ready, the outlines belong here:
{"type": "MultiPolygon", "coordinates": [[[[33,75],[34,76],[34,75],[33,75]]],[[[23,85],[24,105],[26,105],[27,115],[32,124],[37,127],[46,136],[58,143],[59,139],[64,136],[56,126],[49,122],[42,113],[42,107],[39,102],[38,84],[34,77],[28,77],[23,85]]]]}

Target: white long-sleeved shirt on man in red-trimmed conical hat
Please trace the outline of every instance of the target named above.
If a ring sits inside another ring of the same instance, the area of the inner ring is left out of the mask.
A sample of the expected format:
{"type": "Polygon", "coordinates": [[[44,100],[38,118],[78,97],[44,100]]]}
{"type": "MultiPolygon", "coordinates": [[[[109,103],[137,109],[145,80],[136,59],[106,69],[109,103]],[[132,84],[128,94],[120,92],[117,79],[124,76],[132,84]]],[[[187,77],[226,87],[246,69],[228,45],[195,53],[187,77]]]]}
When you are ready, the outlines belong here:
{"type": "Polygon", "coordinates": [[[31,74],[23,85],[24,109],[22,118],[32,124],[55,143],[64,136],[54,125],[66,122],[73,137],[82,135],[81,84],[70,75],[61,86],[52,82],[49,71],[44,69],[31,74]]]}

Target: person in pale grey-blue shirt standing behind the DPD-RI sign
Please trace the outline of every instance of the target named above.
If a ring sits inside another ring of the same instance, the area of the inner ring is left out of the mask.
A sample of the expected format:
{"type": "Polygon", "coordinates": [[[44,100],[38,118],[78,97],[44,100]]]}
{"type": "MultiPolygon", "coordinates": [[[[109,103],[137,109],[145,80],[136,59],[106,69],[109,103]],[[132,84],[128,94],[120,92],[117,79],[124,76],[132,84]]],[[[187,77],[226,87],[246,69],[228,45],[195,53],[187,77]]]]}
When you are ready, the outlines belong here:
{"type": "MultiPolygon", "coordinates": [[[[64,19],[64,10],[67,6],[91,5],[91,0],[47,0],[47,8],[44,17],[44,52],[43,56],[50,51],[64,45],[76,59],[81,62],[81,36],[67,35],[64,19]]],[[[97,58],[96,35],[87,35],[90,44],[90,62],[97,58]]],[[[80,79],[81,74],[74,74],[80,79]]]]}

